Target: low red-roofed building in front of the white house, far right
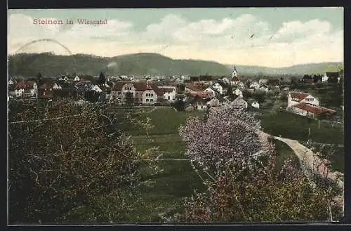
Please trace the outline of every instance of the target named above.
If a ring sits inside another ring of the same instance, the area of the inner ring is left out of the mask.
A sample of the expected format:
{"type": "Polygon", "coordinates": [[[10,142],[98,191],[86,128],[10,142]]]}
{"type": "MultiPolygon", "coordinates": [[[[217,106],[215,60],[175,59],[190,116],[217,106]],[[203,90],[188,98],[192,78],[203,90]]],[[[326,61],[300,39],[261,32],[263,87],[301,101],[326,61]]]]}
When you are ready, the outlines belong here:
{"type": "Polygon", "coordinates": [[[327,117],[330,117],[336,113],[336,111],[330,110],[326,107],[320,107],[309,103],[298,103],[297,105],[293,105],[293,107],[291,107],[291,111],[295,114],[312,118],[316,118],[321,114],[325,114],[327,117]]]}

